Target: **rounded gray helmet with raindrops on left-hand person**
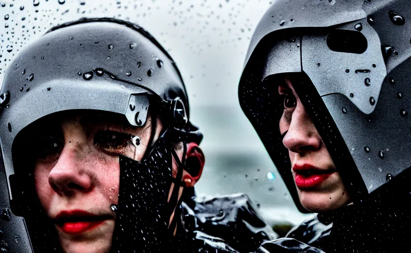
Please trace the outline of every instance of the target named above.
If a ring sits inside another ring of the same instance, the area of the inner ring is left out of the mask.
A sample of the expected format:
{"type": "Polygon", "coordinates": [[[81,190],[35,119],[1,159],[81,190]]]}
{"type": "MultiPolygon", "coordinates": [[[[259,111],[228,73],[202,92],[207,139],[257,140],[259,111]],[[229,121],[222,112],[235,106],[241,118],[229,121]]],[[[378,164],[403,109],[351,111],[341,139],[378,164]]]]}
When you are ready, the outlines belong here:
{"type": "Polygon", "coordinates": [[[33,244],[41,243],[56,251],[54,238],[41,243],[30,238],[27,222],[19,217],[24,217],[20,208],[28,205],[21,203],[27,193],[16,176],[12,150],[16,136],[38,119],[86,109],[122,114],[130,125],[144,126],[149,108],[155,106],[165,116],[164,128],[178,132],[173,138],[197,143],[202,139],[189,122],[186,89],[173,59],[148,32],[121,20],[81,19],[53,28],[20,51],[6,70],[0,94],[0,240],[6,243],[1,247],[13,252],[30,252],[36,248],[33,244]]]}

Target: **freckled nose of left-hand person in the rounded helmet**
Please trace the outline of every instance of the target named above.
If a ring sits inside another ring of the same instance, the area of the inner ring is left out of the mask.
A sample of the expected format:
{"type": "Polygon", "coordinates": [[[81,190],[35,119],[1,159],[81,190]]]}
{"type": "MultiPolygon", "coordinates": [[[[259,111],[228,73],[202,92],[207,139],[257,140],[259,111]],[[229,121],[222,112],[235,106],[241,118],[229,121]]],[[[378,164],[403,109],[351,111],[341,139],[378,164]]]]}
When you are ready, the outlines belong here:
{"type": "Polygon", "coordinates": [[[91,179],[86,172],[84,161],[79,150],[65,147],[56,165],[48,174],[48,182],[59,195],[71,196],[76,192],[87,192],[91,189],[91,179]]]}

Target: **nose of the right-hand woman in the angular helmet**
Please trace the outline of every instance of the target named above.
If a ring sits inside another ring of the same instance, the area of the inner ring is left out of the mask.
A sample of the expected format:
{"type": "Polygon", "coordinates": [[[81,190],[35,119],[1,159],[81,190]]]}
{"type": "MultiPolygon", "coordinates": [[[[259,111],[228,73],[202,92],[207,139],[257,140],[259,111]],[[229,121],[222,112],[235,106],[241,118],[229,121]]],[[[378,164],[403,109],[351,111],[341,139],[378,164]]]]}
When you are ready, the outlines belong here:
{"type": "Polygon", "coordinates": [[[320,134],[301,103],[292,113],[283,144],[291,152],[299,154],[319,150],[322,146],[320,134]]]}

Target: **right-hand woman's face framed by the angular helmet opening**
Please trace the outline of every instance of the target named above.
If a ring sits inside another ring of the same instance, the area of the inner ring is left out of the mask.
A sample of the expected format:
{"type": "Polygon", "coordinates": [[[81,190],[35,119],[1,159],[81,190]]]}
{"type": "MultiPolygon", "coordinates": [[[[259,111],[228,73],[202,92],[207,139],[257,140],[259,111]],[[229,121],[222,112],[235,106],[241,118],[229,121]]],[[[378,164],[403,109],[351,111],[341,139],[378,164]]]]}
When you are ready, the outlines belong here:
{"type": "Polygon", "coordinates": [[[285,134],[283,144],[288,149],[301,205],[313,212],[347,205],[349,196],[334,162],[289,79],[285,81],[278,87],[284,97],[280,132],[285,134]]]}

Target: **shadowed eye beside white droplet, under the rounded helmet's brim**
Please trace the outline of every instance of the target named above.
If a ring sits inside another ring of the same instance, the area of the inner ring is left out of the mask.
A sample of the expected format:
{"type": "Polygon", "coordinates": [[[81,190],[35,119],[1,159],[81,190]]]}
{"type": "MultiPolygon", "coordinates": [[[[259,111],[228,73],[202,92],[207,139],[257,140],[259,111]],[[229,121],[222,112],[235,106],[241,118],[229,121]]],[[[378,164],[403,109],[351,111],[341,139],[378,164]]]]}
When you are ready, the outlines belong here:
{"type": "Polygon", "coordinates": [[[111,154],[125,154],[133,146],[133,136],[117,131],[98,131],[94,135],[94,144],[102,151],[111,154]]]}

